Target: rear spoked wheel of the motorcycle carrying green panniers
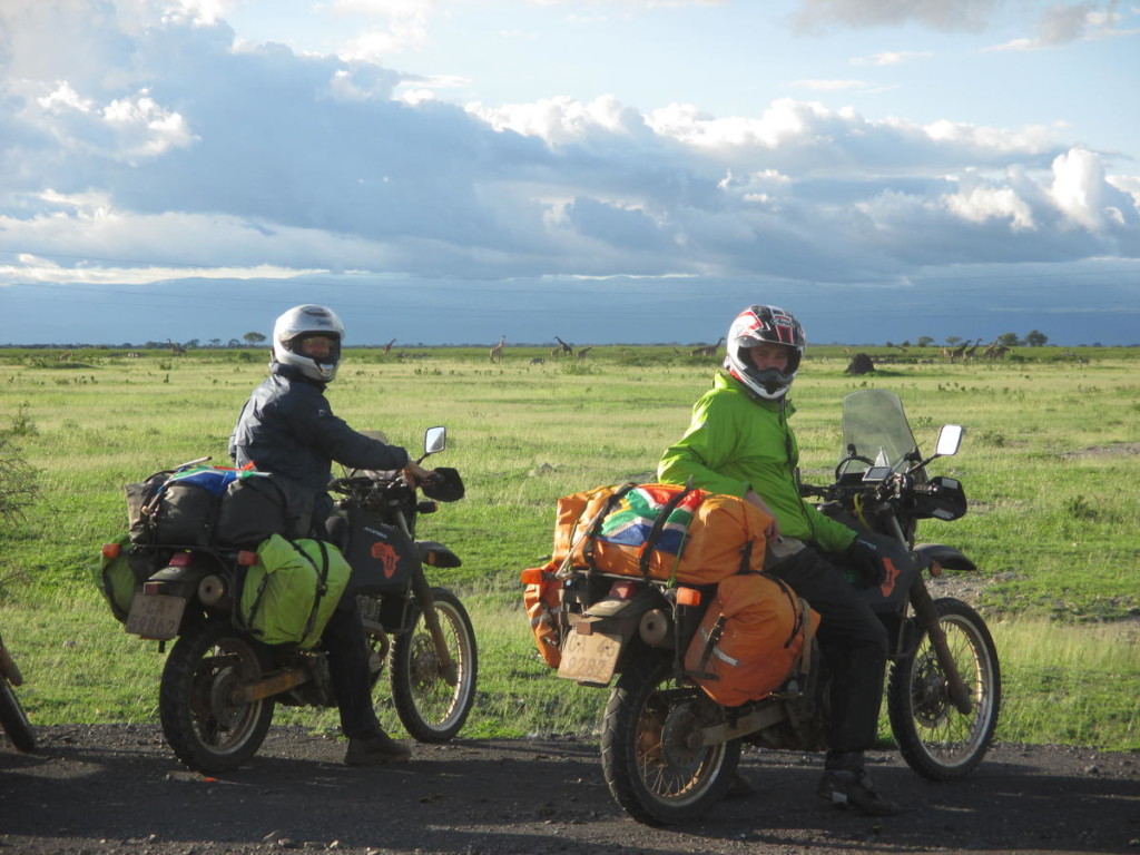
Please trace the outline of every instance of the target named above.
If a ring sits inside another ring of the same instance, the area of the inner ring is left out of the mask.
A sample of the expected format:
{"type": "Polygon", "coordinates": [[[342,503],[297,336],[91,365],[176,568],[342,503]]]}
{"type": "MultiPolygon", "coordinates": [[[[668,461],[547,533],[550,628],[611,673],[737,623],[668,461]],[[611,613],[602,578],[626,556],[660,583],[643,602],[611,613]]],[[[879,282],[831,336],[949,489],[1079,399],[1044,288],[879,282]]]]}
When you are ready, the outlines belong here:
{"type": "Polygon", "coordinates": [[[256,754],[274,701],[246,701],[239,693],[264,668],[262,650],[226,621],[209,620],[178,640],[158,690],[162,732],[178,759],[209,774],[237,768],[256,754]]]}

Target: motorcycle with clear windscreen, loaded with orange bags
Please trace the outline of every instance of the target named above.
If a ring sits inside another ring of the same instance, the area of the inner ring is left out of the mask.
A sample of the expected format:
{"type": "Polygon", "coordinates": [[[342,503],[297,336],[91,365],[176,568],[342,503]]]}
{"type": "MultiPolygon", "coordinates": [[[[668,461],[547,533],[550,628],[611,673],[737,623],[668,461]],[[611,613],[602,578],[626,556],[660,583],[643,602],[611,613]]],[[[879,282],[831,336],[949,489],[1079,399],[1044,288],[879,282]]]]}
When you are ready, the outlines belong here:
{"type": "MultiPolygon", "coordinates": [[[[800,491],[821,499],[824,513],[902,545],[909,562],[901,563],[910,565],[895,567],[881,587],[860,593],[888,630],[890,728],[914,772],[931,780],[962,777],[982,762],[996,727],[997,652],[978,613],[956,598],[933,600],[921,572],[976,570],[974,562],[951,546],[915,544],[915,532],[920,520],[966,513],[961,483],[927,473],[934,459],[958,453],[963,431],[945,425],[935,454],[923,458],[902,401],[882,390],[848,396],[842,430],[834,482],[801,484],[800,491]]],[[[808,667],[760,700],[724,707],[685,669],[685,651],[716,586],[694,593],[578,568],[560,568],[555,576],[559,676],[608,687],[608,675],[618,675],[602,716],[602,769],[610,793],[635,820],[669,824],[705,814],[726,795],[746,742],[826,748],[829,677],[814,637],[806,642],[808,667]],[[588,634],[575,637],[576,625],[585,621],[588,634]],[[600,679],[598,673],[606,676],[600,679]]]]}

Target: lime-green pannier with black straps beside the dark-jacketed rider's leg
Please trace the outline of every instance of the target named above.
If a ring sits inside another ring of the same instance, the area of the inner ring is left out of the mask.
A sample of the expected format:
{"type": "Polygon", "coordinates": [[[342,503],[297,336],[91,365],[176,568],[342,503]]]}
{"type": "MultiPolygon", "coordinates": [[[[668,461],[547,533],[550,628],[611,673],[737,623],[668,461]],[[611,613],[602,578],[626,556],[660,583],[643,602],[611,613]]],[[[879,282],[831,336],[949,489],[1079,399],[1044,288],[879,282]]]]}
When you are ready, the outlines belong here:
{"type": "Polygon", "coordinates": [[[271,535],[258,546],[258,563],[245,575],[238,620],[266,644],[311,648],[320,641],[351,572],[329,543],[271,535]]]}

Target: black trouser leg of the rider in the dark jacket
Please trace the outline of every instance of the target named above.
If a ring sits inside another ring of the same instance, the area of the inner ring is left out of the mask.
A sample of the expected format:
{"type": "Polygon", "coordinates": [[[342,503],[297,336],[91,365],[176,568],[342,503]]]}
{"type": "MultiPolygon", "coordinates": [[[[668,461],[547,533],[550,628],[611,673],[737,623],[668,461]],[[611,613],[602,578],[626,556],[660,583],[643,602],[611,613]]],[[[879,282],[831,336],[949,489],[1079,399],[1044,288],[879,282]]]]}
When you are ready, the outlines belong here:
{"type": "Polygon", "coordinates": [[[383,733],[372,703],[368,657],[356,597],[345,594],[325,625],[321,645],[328,654],[328,675],[336,693],[341,731],[350,739],[383,733]]]}

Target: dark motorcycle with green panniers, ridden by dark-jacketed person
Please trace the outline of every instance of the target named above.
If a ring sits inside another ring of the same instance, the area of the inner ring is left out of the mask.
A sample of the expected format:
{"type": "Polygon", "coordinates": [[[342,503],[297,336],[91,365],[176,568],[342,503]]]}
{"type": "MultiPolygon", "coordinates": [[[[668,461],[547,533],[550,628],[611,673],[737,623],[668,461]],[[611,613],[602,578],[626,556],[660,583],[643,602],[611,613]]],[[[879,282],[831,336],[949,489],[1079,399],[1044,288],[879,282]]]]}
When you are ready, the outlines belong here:
{"type": "MultiPolygon", "coordinates": [[[[430,429],[420,461],[446,445],[446,429],[430,429]]],[[[397,535],[393,542],[408,545],[412,554],[380,575],[353,563],[343,596],[357,600],[377,700],[386,694],[380,692],[386,668],[408,733],[421,742],[446,742],[474,705],[475,634],[459,598],[433,587],[425,572],[459,567],[459,557],[442,544],[415,540],[415,532],[420,515],[434,513],[437,502],[462,498],[462,479],[439,469],[417,488],[399,471],[351,470],[328,489],[339,497],[334,516],[364,531],[394,528],[404,539],[397,535]],[[420,489],[427,500],[420,500],[420,489]]],[[[177,638],[158,689],[162,730],[178,759],[206,774],[234,769],[256,752],[276,703],[335,706],[323,651],[262,643],[237,619],[243,570],[255,560],[249,551],[177,551],[142,584],[125,620],[129,634],[161,645],[177,638]]]]}

